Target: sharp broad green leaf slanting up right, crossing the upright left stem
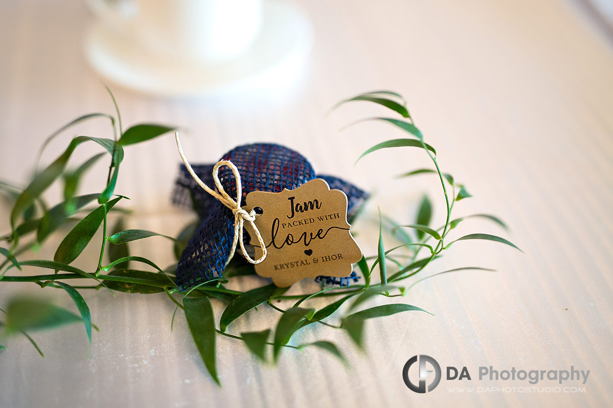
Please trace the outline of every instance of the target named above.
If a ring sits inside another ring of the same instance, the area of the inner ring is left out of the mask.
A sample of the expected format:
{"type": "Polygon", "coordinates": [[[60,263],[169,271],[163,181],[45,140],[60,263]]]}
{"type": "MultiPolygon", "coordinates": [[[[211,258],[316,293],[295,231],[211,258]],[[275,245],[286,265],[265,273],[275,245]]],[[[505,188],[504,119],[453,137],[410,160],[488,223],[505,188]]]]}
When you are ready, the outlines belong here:
{"type": "Polygon", "coordinates": [[[111,200],[105,206],[101,205],[96,210],[89,213],[83,218],[75,227],[64,237],[64,240],[59,244],[53,260],[56,262],[70,263],[77,259],[78,255],[83,252],[83,249],[87,246],[91,238],[102,224],[106,212],[113,208],[119,200],[123,197],[117,197],[111,200]]]}

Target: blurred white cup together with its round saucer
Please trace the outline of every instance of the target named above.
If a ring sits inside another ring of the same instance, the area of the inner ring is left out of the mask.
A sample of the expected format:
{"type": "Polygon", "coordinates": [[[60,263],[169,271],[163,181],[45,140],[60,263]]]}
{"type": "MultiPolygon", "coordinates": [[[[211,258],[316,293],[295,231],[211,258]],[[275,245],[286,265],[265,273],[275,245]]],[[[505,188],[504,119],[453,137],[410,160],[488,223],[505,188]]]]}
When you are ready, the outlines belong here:
{"type": "Polygon", "coordinates": [[[91,66],[159,96],[280,85],[299,72],[313,37],[303,10],[287,1],[86,1],[99,17],[85,40],[91,66]]]}

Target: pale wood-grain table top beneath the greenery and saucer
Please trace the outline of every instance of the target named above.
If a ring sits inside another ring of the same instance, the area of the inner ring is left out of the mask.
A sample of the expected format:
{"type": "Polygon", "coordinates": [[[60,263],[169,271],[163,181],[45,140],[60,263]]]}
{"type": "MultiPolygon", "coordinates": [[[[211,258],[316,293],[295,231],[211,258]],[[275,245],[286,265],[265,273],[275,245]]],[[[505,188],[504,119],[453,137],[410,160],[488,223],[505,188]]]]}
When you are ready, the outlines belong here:
{"type": "MultiPolygon", "coordinates": [[[[402,137],[385,124],[338,134],[344,124],[382,110],[354,104],[324,117],[343,97],[395,89],[405,94],[417,126],[438,149],[443,170],[474,195],[458,203],[456,214],[498,214],[512,228],[505,236],[525,254],[495,243],[455,244],[425,272],[471,265],[498,271],[449,274],[417,285],[402,301],[436,316],[411,312],[368,322],[364,355],[331,328],[296,336],[297,342],[334,339],[350,369],[318,350],[285,352],[277,368],[262,367],[240,342],[220,338],[222,389],[208,377],[182,315],[170,331],[173,306],[166,295],[113,298],[105,291],[86,292],[102,330],[94,333],[91,357],[78,325],[36,333],[44,359],[26,339],[10,339],[0,352],[0,406],[611,405],[613,49],[606,37],[569,1],[303,3],[316,38],[294,88],[274,95],[171,100],[114,87],[124,124],[155,121],[190,129],[183,143],[193,162],[214,162],[239,143],[283,143],[305,154],[318,171],[390,192],[373,203],[402,222],[413,221],[427,191],[438,224],[444,221],[444,202],[434,179],[392,177],[427,165],[422,152],[379,152],[352,167],[364,149],[402,137]],[[432,393],[419,395],[402,380],[405,361],[416,354],[431,355],[441,366],[468,366],[473,376],[478,366],[574,365],[589,369],[590,377],[582,394],[458,394],[446,390],[454,382],[443,380],[432,393]]],[[[82,54],[92,18],[77,0],[0,4],[3,179],[26,181],[37,146],[61,124],[89,111],[112,112],[101,78],[82,54]]],[[[56,156],[74,134],[109,137],[109,126],[101,119],[78,126],[44,158],[56,156]]],[[[82,151],[87,149],[95,150],[82,151]]],[[[135,217],[129,227],[172,235],[191,219],[169,203],[178,163],[172,137],[126,149],[116,191],[132,198],[135,217]]],[[[92,175],[86,184],[101,189],[103,182],[92,175]]],[[[58,200],[58,189],[50,197],[58,200]]],[[[7,211],[3,206],[3,231],[7,211]]],[[[367,224],[356,227],[368,229],[367,224]]],[[[471,232],[503,233],[487,222],[466,221],[454,235],[471,232]]],[[[358,241],[373,254],[376,243],[366,233],[358,241]]],[[[31,256],[52,256],[54,250],[52,241],[46,252],[31,256]]],[[[95,262],[95,251],[75,265],[95,262]]],[[[132,252],[162,265],[172,258],[162,238],[150,238],[132,252]]],[[[313,284],[301,282],[295,290],[310,289],[313,284]]],[[[17,293],[53,296],[74,307],[65,294],[33,284],[0,284],[0,303],[17,293]]],[[[276,312],[261,308],[231,331],[261,330],[276,319],[276,312]]]]}

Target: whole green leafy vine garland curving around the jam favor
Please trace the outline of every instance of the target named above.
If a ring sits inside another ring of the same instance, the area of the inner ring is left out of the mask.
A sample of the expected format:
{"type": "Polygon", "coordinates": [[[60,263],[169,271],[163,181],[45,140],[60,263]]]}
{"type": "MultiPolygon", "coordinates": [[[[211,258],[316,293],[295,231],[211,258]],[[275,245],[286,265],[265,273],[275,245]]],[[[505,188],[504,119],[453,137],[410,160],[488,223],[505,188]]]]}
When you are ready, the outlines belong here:
{"type": "MultiPolygon", "coordinates": [[[[67,292],[72,300],[74,300],[79,312],[77,315],[66,309],[59,308],[52,303],[32,297],[13,298],[6,305],[6,311],[5,309],[0,309],[0,311],[5,314],[5,318],[0,320],[0,330],[3,331],[4,336],[15,333],[23,334],[32,342],[41,355],[43,355],[42,351],[28,332],[42,328],[59,327],[67,323],[82,322],[85,325],[91,347],[91,331],[92,328],[97,330],[97,327],[91,322],[89,307],[78,290],[105,288],[111,292],[113,290],[128,293],[166,292],[170,301],[176,305],[172,321],[174,322],[178,309],[185,311],[189,329],[191,330],[196,346],[202,356],[204,365],[213,380],[220,385],[221,383],[219,382],[216,369],[215,351],[215,341],[218,335],[242,340],[245,342],[248,349],[262,361],[268,361],[270,358],[267,352],[268,346],[272,346],[272,358],[275,362],[278,360],[281,350],[284,348],[303,349],[307,346],[315,346],[327,350],[345,361],[341,351],[330,341],[316,341],[299,346],[293,346],[289,343],[296,331],[313,323],[319,323],[346,331],[355,344],[362,348],[365,320],[392,315],[398,312],[424,311],[421,308],[405,303],[383,304],[381,306],[356,311],[359,306],[363,306],[363,304],[367,303],[371,298],[378,295],[383,295],[388,298],[405,296],[409,289],[417,284],[417,282],[421,282],[424,279],[438,274],[462,270],[490,271],[489,269],[478,267],[454,268],[452,270],[430,274],[425,278],[413,279],[408,285],[398,285],[400,282],[420,273],[430,262],[432,262],[432,260],[443,256],[444,251],[449,249],[453,243],[462,240],[490,240],[517,248],[504,238],[483,233],[473,233],[457,238],[456,240],[446,241],[449,232],[457,227],[464,219],[468,218],[462,217],[452,219],[451,213],[455,203],[463,198],[471,197],[471,195],[468,194],[468,191],[466,191],[462,184],[457,184],[451,175],[441,172],[438,162],[436,161],[436,151],[432,146],[424,142],[421,131],[417,129],[411,115],[409,115],[405,99],[403,99],[400,94],[391,91],[374,91],[343,100],[332,109],[346,102],[360,100],[382,105],[400,115],[400,118],[376,117],[362,119],[362,121],[385,121],[407,132],[410,138],[400,138],[381,142],[365,151],[358,160],[367,154],[384,148],[413,147],[423,149],[432,160],[435,168],[420,168],[419,170],[405,173],[402,176],[414,176],[423,173],[435,173],[438,175],[446,202],[447,215],[445,224],[437,229],[429,226],[432,214],[432,204],[427,196],[424,196],[421,202],[415,224],[398,225],[389,217],[383,216],[379,211],[378,254],[375,257],[363,257],[362,260],[356,264],[357,270],[360,271],[364,279],[363,284],[356,284],[351,287],[327,288],[324,288],[322,285],[321,290],[318,292],[304,293],[301,295],[284,295],[287,288],[278,288],[273,284],[257,287],[247,292],[230,290],[224,287],[224,284],[230,279],[240,279],[241,276],[254,274],[253,265],[242,262],[239,257],[235,257],[224,272],[225,278],[204,282],[185,293],[181,293],[178,291],[177,285],[175,284],[175,270],[177,265],[162,270],[162,268],[149,259],[129,255],[128,242],[148,238],[150,236],[159,236],[161,234],[145,230],[125,230],[123,227],[123,218],[120,218],[120,221],[115,225],[115,228],[110,234],[107,233],[108,214],[110,211],[125,212],[125,210],[121,210],[115,205],[121,202],[121,200],[128,199],[123,195],[114,196],[120,164],[124,158],[124,146],[142,143],[173,130],[173,127],[169,126],[138,124],[124,131],[121,123],[120,111],[110,90],[109,94],[116,108],[116,118],[105,113],[91,113],[75,119],[47,138],[40,150],[39,159],[44,148],[57,135],[61,134],[61,132],[69,127],[91,118],[102,117],[109,119],[113,129],[112,139],[88,136],[73,138],[66,148],[66,151],[44,170],[37,172],[29,185],[23,190],[11,186],[10,184],[0,182],[0,191],[5,192],[14,200],[13,208],[10,213],[11,231],[6,236],[0,237],[0,241],[4,241],[7,244],[7,247],[0,247],[0,254],[6,257],[6,260],[0,265],[0,281],[34,282],[40,285],[40,287],[62,289],[67,292]],[[75,170],[66,170],[67,161],[72,153],[74,153],[75,148],[85,142],[97,143],[105,149],[105,152],[89,158],[75,170]],[[111,160],[104,191],[96,194],[75,195],[82,176],[88,171],[91,165],[101,159],[106,153],[110,155],[111,160]],[[42,194],[59,178],[63,178],[64,181],[64,201],[52,208],[48,208],[42,198],[42,194]],[[451,189],[451,195],[449,194],[449,189],[451,189]],[[85,206],[94,200],[97,200],[99,206],[93,210],[86,210],[85,206]],[[87,212],[87,214],[82,216],[83,212],[87,212]],[[37,214],[40,214],[40,216],[38,217],[37,214]],[[75,221],[77,224],[72,227],[72,230],[70,230],[63,241],[61,241],[53,260],[20,261],[17,259],[17,257],[27,249],[39,247],[44,244],[47,237],[51,235],[51,233],[56,232],[59,227],[66,224],[72,224],[75,221]],[[88,272],[70,265],[70,263],[77,259],[78,255],[82,253],[83,249],[88,246],[101,225],[103,239],[97,266],[88,272]],[[415,235],[409,235],[405,229],[414,230],[415,235]],[[397,240],[402,242],[402,245],[386,250],[383,245],[384,231],[392,233],[397,240]],[[28,235],[34,236],[34,239],[26,244],[21,244],[22,238],[28,235]],[[392,254],[392,252],[400,248],[409,251],[408,255],[399,256],[392,254]],[[420,258],[420,252],[425,251],[425,249],[427,249],[427,254],[420,258]],[[105,253],[108,254],[111,262],[103,266],[105,253]],[[144,263],[151,266],[155,271],[131,269],[128,268],[129,263],[144,263]],[[6,274],[7,271],[12,268],[17,268],[21,271],[22,268],[26,266],[54,270],[54,273],[39,274],[36,276],[6,274]],[[372,274],[377,266],[380,279],[375,281],[372,279],[372,274]],[[389,273],[389,266],[394,268],[393,273],[389,273]],[[96,281],[96,284],[76,286],[66,283],[66,281],[70,281],[71,279],[91,279],[92,281],[96,281]],[[303,306],[304,303],[314,298],[332,298],[333,301],[327,304],[327,306],[318,309],[305,308],[303,306]],[[327,318],[334,314],[350,299],[352,303],[348,308],[349,314],[340,319],[340,324],[330,323],[327,318]],[[224,311],[219,319],[219,328],[217,327],[217,321],[213,314],[211,300],[225,305],[224,311]],[[282,309],[276,306],[273,300],[293,300],[295,303],[287,309],[282,309]],[[262,304],[267,304],[281,313],[276,328],[274,328],[272,338],[271,332],[273,328],[268,328],[264,331],[240,333],[240,336],[226,333],[227,327],[231,325],[234,320],[262,304]]],[[[501,227],[506,228],[500,219],[489,214],[475,214],[470,217],[485,217],[486,219],[496,222],[501,227]]],[[[187,241],[194,233],[194,229],[195,225],[189,225],[177,236],[177,238],[161,235],[173,241],[174,252],[177,259],[181,251],[185,248],[187,241]]],[[[0,346],[0,349],[4,348],[4,346],[0,346]]]]}

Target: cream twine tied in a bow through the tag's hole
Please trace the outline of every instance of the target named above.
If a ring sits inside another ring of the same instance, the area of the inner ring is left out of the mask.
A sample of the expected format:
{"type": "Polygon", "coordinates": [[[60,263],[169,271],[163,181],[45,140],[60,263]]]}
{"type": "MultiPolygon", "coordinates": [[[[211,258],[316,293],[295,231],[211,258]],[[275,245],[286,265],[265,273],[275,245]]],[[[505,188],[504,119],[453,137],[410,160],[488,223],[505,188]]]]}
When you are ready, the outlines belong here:
{"type": "Polygon", "coordinates": [[[179,141],[179,132],[175,132],[175,140],[177,140],[177,149],[179,150],[179,154],[181,159],[183,160],[183,164],[188,169],[189,174],[196,180],[196,182],[204,189],[204,191],[208,192],[208,194],[217,198],[223,205],[232,210],[232,214],[234,214],[234,241],[232,241],[232,249],[230,249],[230,255],[226,261],[226,265],[230,262],[230,259],[234,257],[234,252],[236,251],[237,244],[240,245],[240,250],[243,252],[243,256],[249,263],[260,263],[262,262],[268,251],[266,249],[266,244],[264,243],[264,239],[260,231],[257,229],[256,224],[256,211],[246,211],[244,208],[241,208],[240,201],[243,197],[242,185],[240,183],[240,173],[238,172],[238,168],[234,165],[234,163],[229,160],[221,160],[217,162],[215,167],[213,167],[213,181],[215,181],[215,186],[217,187],[219,192],[216,192],[213,189],[210,189],[207,184],[204,184],[204,181],[200,179],[200,177],[194,173],[191,165],[188,162],[188,159],[185,158],[185,153],[183,153],[183,149],[181,148],[181,142],[179,141]],[[221,181],[219,181],[219,167],[227,166],[232,170],[232,174],[234,174],[234,178],[236,179],[236,200],[232,199],[229,194],[227,194],[224,187],[221,185],[221,181]],[[262,256],[256,260],[251,259],[249,254],[245,249],[245,244],[243,244],[243,229],[245,221],[248,221],[251,224],[251,228],[253,228],[254,233],[257,237],[257,242],[260,244],[262,248],[262,256]]]}

